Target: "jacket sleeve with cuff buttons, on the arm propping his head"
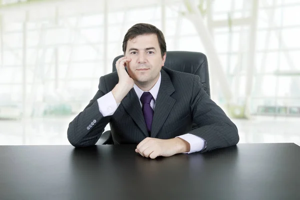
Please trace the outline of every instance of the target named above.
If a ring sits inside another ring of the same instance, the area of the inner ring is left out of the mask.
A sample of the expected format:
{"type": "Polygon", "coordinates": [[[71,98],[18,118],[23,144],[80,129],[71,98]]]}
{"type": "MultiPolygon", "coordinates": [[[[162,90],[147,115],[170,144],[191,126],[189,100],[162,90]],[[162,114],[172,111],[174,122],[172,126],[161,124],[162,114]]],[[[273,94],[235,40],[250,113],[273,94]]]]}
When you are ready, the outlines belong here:
{"type": "Polygon", "coordinates": [[[105,79],[100,77],[98,91],[88,105],[68,125],[67,139],[75,146],[94,145],[104,131],[110,116],[99,111],[97,99],[108,93],[105,79]]]}

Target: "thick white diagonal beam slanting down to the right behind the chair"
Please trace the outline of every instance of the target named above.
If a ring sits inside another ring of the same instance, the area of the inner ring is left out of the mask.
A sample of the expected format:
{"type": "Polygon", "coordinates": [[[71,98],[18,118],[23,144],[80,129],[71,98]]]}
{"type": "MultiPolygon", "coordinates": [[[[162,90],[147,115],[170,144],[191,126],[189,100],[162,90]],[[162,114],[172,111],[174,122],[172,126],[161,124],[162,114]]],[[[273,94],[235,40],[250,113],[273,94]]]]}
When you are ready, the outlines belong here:
{"type": "Polygon", "coordinates": [[[194,24],[196,31],[202,41],[202,44],[206,50],[207,57],[209,58],[210,71],[214,77],[219,81],[221,91],[224,94],[226,103],[231,103],[232,92],[229,83],[226,79],[225,72],[222,68],[220,59],[216,52],[213,40],[209,34],[207,27],[204,24],[204,20],[197,6],[193,4],[192,0],[184,0],[184,4],[187,7],[188,13],[185,16],[194,24]]]}

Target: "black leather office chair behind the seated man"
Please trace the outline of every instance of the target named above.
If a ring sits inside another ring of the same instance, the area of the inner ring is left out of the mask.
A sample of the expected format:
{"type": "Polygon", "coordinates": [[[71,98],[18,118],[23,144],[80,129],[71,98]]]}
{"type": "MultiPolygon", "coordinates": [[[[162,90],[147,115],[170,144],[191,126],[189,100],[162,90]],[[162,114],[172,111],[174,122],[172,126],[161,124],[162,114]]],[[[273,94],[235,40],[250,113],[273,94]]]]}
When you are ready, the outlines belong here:
{"type": "MultiPolygon", "coordinates": [[[[115,62],[123,55],[115,57],[112,61],[112,71],[115,71],[115,62]]],[[[196,74],[200,77],[203,89],[210,96],[208,63],[206,55],[200,52],[191,51],[167,51],[164,67],[176,71],[196,74]]],[[[192,125],[192,129],[196,128],[196,124],[192,125]]],[[[113,144],[110,130],[102,133],[97,144],[113,144]]]]}

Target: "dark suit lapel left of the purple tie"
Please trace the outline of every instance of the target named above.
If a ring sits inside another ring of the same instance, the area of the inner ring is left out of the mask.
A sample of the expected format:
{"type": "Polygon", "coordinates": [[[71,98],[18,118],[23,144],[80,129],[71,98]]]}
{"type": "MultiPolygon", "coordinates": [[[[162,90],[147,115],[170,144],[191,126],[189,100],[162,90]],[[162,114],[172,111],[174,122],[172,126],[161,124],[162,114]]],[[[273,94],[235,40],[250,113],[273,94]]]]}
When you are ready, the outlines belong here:
{"type": "Polygon", "coordinates": [[[121,104],[127,111],[127,113],[131,116],[131,118],[135,121],[141,131],[144,133],[146,137],[149,136],[146,122],[144,120],[144,116],[140,107],[139,99],[134,91],[134,88],[130,89],[127,95],[122,99],[121,104]]]}

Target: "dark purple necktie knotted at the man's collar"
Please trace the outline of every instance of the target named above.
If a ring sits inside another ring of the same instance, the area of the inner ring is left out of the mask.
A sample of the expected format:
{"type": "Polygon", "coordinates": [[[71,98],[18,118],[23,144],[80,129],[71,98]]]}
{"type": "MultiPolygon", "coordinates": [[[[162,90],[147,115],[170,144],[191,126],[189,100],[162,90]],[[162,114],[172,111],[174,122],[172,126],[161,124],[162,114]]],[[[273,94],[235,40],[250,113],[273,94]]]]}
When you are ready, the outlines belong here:
{"type": "Polygon", "coordinates": [[[153,109],[150,106],[150,102],[153,96],[150,92],[143,92],[140,96],[140,102],[142,103],[142,113],[145,118],[148,132],[151,132],[153,109]]]}

